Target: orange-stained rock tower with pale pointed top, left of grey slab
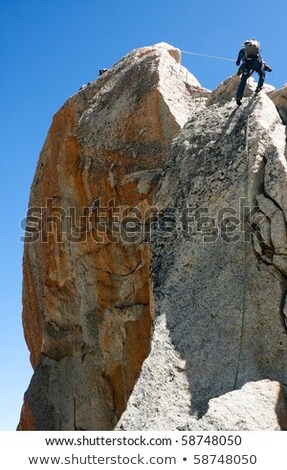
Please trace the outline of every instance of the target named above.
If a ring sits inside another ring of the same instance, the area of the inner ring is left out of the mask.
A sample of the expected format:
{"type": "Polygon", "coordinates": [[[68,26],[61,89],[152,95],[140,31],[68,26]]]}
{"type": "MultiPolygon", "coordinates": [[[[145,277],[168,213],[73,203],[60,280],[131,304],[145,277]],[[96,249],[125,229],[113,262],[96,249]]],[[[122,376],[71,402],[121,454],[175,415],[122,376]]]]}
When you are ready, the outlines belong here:
{"type": "Polygon", "coordinates": [[[20,430],[112,429],[125,410],[150,348],[150,207],[202,90],[178,60],[135,50],[53,119],[27,218],[20,430]]]}

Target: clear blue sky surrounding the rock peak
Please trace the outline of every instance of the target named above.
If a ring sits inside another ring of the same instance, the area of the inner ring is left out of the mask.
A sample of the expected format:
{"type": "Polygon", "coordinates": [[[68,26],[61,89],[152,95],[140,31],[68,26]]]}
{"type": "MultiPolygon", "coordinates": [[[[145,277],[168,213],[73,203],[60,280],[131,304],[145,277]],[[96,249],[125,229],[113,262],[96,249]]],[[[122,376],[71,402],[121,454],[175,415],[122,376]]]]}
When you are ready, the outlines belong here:
{"type": "MultiPolygon", "coordinates": [[[[0,0],[1,430],[15,429],[32,373],[21,324],[20,220],[53,114],[99,68],[161,41],[233,58],[257,37],[274,70],[268,81],[280,87],[286,18],[286,0],[0,0]]],[[[234,72],[231,62],[182,63],[208,88],[234,72]]]]}

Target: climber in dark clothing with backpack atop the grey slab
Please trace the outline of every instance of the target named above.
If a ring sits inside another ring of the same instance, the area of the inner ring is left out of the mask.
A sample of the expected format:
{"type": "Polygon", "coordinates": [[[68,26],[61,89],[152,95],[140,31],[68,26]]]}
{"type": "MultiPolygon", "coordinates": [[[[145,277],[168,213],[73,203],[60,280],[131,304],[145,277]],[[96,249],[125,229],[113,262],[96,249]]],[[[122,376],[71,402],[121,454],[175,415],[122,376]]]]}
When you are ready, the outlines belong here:
{"type": "Polygon", "coordinates": [[[241,100],[247,79],[251,77],[253,72],[257,72],[259,75],[257,88],[255,90],[255,93],[259,93],[263,87],[266,71],[271,72],[272,69],[262,59],[260,55],[260,43],[256,39],[248,39],[243,43],[243,47],[240,49],[237,57],[236,65],[240,65],[237,75],[241,75],[241,81],[236,93],[236,103],[240,106],[242,104],[241,100]],[[241,62],[242,64],[240,65],[241,62]]]}

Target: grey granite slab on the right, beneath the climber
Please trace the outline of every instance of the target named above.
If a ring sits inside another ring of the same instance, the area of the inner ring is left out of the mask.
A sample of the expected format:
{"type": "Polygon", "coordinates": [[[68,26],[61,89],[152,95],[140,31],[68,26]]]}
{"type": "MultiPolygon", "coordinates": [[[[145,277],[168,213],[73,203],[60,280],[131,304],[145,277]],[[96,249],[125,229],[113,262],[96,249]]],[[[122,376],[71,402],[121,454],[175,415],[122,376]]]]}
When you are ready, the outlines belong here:
{"type": "MultiPolygon", "coordinates": [[[[205,429],[215,397],[286,383],[285,127],[265,94],[236,109],[232,88],[233,78],[172,144],[155,196],[151,353],[120,429],[205,429]]],[[[214,428],[234,429],[231,415],[214,428]]],[[[244,419],[253,429],[254,413],[244,419]]]]}

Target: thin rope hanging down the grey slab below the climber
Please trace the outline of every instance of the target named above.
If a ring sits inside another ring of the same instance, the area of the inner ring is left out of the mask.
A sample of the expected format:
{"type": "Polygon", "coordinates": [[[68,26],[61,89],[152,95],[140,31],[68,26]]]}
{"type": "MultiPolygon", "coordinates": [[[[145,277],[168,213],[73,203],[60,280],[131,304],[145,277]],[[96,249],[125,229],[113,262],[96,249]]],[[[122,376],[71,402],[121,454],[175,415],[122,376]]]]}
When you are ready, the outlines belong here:
{"type": "MultiPolygon", "coordinates": [[[[251,97],[249,99],[249,103],[251,101],[251,97]]],[[[248,200],[248,192],[249,192],[249,147],[248,147],[248,139],[249,139],[249,114],[247,115],[246,120],[246,127],[245,127],[245,158],[246,158],[246,178],[244,184],[244,200],[245,204],[248,200]]],[[[239,338],[239,352],[238,352],[238,359],[237,359],[237,366],[235,371],[235,379],[233,390],[237,387],[238,381],[238,374],[239,374],[239,367],[240,367],[240,359],[242,356],[243,350],[243,338],[244,338],[244,325],[245,325],[245,315],[246,315],[246,297],[247,297],[247,280],[248,280],[248,272],[247,272],[247,258],[248,258],[248,239],[244,239],[243,234],[243,249],[244,249],[244,269],[243,269],[243,292],[242,292],[242,309],[241,309],[241,326],[240,326],[240,338],[239,338]]]]}

